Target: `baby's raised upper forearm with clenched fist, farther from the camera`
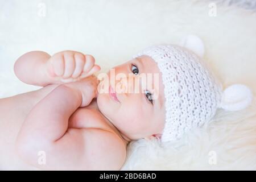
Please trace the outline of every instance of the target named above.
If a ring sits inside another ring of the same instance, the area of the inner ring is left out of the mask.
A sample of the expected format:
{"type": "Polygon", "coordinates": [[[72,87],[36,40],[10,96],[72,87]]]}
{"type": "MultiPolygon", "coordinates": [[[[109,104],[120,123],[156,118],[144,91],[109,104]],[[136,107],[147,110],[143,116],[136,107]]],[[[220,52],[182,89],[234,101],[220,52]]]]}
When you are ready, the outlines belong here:
{"type": "Polygon", "coordinates": [[[80,80],[99,71],[94,57],[76,51],[53,56],[43,51],[25,53],[14,64],[15,75],[26,84],[46,86],[80,80]]]}

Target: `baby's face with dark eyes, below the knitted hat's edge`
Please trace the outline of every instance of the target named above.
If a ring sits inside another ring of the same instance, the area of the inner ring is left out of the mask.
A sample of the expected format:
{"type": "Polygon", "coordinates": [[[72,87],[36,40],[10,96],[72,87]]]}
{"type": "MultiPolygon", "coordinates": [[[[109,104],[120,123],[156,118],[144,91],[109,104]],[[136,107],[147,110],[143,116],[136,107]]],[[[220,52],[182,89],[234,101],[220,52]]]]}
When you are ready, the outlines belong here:
{"type": "Polygon", "coordinates": [[[98,108],[124,137],[136,140],[162,134],[165,118],[162,75],[151,57],[137,57],[112,68],[100,82],[101,88],[102,85],[110,93],[98,94],[98,108]],[[111,94],[112,89],[115,94],[111,94]]]}

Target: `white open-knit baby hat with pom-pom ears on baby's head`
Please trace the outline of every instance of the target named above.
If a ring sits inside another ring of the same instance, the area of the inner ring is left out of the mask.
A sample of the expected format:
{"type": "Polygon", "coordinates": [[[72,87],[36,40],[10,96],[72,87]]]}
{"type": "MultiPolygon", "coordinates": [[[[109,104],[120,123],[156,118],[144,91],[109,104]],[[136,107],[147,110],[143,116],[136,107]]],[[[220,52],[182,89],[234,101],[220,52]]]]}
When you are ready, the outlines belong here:
{"type": "Polygon", "coordinates": [[[133,57],[150,56],[162,72],[166,122],[162,142],[176,140],[195,127],[208,122],[218,107],[240,110],[250,104],[252,94],[245,85],[232,85],[222,92],[206,65],[186,48],[160,44],[133,57]]]}

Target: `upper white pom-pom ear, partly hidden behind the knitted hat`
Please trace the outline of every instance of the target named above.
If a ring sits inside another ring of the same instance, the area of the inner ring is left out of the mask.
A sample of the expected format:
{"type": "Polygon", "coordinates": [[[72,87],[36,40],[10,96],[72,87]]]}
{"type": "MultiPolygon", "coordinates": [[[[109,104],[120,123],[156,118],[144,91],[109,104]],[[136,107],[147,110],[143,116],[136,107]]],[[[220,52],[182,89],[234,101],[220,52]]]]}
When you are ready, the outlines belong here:
{"type": "Polygon", "coordinates": [[[196,53],[199,57],[204,57],[204,43],[196,35],[184,36],[179,43],[179,46],[185,47],[192,52],[196,53]]]}

